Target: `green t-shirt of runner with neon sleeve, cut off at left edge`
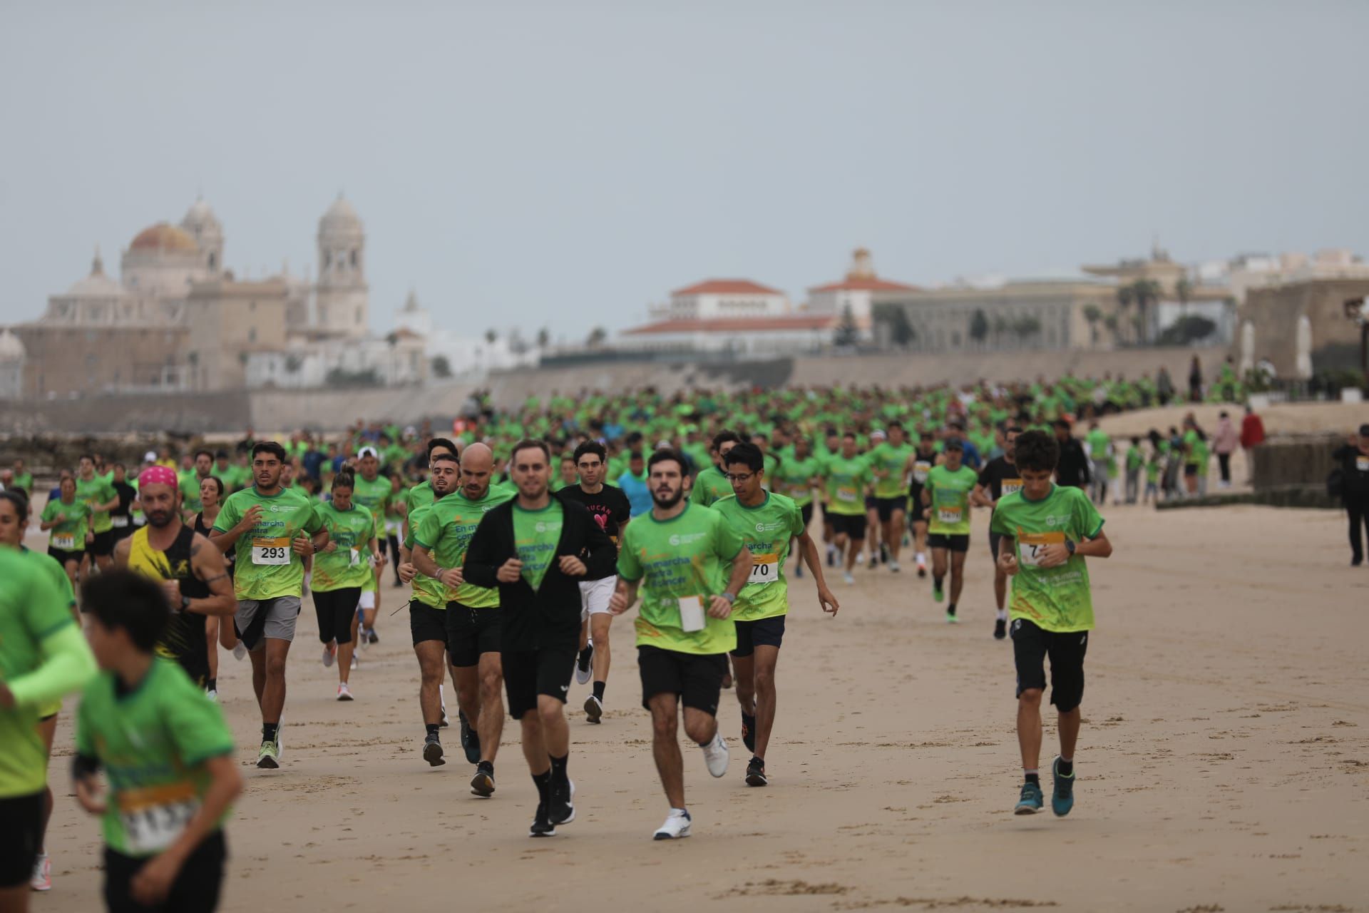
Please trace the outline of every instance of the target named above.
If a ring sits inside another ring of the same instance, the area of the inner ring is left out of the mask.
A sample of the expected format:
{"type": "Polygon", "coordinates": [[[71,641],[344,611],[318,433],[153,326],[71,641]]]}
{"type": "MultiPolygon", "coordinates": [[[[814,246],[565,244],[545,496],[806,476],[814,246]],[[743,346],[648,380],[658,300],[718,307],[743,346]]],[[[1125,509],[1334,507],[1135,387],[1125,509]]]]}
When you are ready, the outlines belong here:
{"type": "MultiPolygon", "coordinates": [[[[68,624],[75,624],[70,598],[51,574],[18,549],[0,548],[0,680],[37,669],[42,641],[68,624]]],[[[38,793],[48,782],[48,750],[38,735],[41,712],[37,705],[0,709],[0,799],[38,793]]]]}

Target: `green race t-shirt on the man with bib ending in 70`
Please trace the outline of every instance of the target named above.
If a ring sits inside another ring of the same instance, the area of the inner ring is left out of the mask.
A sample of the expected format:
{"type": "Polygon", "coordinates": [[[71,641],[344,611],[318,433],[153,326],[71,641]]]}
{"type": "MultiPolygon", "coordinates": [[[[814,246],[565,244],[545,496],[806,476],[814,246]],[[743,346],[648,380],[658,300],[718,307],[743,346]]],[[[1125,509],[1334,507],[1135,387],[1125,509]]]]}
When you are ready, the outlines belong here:
{"type": "Polygon", "coordinates": [[[767,493],[765,501],[749,508],[737,500],[719,498],[713,509],[742,537],[752,553],[752,574],[732,605],[734,621],[756,621],[789,612],[789,582],[784,561],[790,539],[804,534],[804,515],[793,500],[767,493]]]}

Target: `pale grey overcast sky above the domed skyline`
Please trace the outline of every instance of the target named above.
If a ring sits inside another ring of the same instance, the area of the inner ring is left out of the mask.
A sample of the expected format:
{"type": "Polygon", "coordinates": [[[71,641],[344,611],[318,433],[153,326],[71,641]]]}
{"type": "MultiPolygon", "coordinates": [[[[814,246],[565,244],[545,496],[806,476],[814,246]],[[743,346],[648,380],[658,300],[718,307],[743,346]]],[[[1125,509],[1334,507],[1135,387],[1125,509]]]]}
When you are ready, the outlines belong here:
{"type": "Polygon", "coordinates": [[[639,322],[669,289],[1369,253],[1369,3],[0,3],[0,323],[196,194],[371,324],[639,322]]]}

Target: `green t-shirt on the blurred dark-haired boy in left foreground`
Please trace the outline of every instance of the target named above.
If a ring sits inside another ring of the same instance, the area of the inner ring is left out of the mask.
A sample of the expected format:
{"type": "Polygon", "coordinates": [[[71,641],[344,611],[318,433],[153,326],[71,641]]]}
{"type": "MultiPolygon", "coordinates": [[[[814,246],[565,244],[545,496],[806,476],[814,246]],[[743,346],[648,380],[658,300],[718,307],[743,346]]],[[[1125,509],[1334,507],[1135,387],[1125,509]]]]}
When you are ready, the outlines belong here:
{"type": "Polygon", "coordinates": [[[125,856],[167,849],[204,802],[204,762],[233,747],[219,705],[175,660],[153,658],[122,695],[114,672],[96,676],[77,712],[77,751],[100,758],[110,782],[104,842],[125,856]]]}

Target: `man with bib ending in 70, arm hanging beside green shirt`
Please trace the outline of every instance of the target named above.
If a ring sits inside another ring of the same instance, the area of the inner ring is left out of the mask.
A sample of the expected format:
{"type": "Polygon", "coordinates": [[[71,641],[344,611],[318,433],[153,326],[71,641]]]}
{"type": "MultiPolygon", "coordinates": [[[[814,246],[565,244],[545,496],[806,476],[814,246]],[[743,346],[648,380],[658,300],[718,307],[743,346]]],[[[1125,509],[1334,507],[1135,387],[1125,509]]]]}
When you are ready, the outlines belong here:
{"type": "Polygon", "coordinates": [[[765,463],[758,448],[738,443],[726,459],[727,476],[734,496],[720,498],[713,509],[727,517],[752,554],[746,586],[732,604],[737,623],[737,647],[732,665],[737,671],[737,701],[742,706],[742,743],[752,753],[746,765],[746,784],[765,786],[765,749],[775,725],[775,667],[784,641],[784,616],[789,613],[789,584],[784,561],[789,543],[798,539],[799,560],[817,583],[817,604],[823,612],[836,615],[836,597],[823,579],[823,560],[817,545],[808,535],[798,505],[783,494],[767,491],[765,463]]]}

